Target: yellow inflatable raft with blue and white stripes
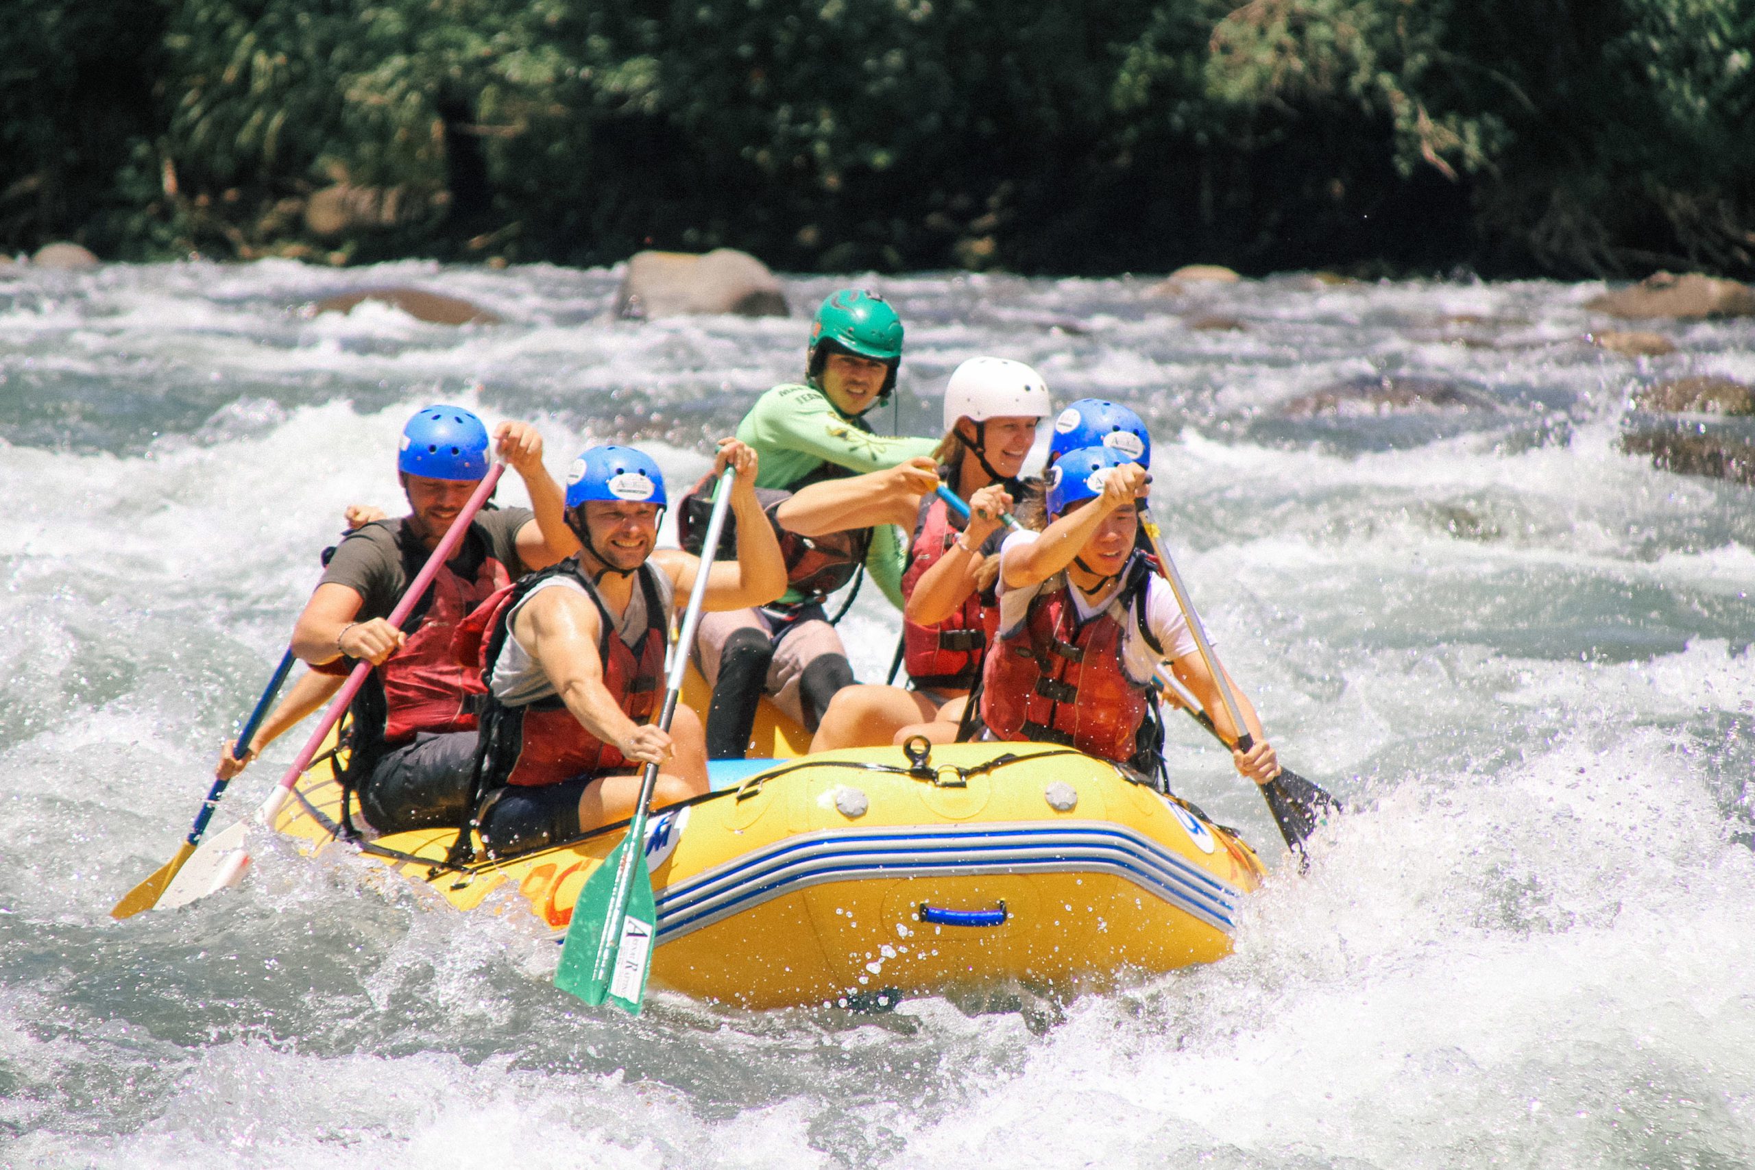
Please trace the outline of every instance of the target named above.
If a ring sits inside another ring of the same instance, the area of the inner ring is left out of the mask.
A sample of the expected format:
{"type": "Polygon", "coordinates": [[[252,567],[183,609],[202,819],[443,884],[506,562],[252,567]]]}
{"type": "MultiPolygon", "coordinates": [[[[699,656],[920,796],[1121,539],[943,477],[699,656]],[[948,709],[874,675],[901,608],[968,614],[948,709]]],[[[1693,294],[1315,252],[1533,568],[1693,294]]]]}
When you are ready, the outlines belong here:
{"type": "MultiPolygon", "coordinates": [[[[698,679],[693,689],[704,698],[698,679]]],[[[716,791],[653,817],[655,986],[756,1009],[1100,989],[1225,956],[1237,900],[1264,875],[1230,831],[1065,747],[786,758],[802,738],[765,710],[756,751],[777,758],[716,765],[716,791]]],[[[332,768],[319,763],[295,795],[276,828],[312,851],[333,845],[332,768]]],[[[346,847],[462,910],[516,889],[558,937],[623,833],[463,867],[444,865],[453,830],[346,847]]]]}

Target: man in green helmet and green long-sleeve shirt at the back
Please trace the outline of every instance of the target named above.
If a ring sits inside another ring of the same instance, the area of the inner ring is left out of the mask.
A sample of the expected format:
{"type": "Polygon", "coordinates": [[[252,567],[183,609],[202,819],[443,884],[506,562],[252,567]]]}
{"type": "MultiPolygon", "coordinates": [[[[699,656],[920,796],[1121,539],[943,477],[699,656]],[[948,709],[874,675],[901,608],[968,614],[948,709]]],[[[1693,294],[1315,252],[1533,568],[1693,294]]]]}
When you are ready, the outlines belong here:
{"type": "MultiPolygon", "coordinates": [[[[902,319],[895,309],[860,289],[830,295],[811,325],[806,381],[769,389],[737,426],[737,437],[760,456],[756,486],[797,491],[930,460],[935,439],[886,439],[874,435],[862,417],[893,393],[900,365],[902,319]]],[[[707,710],[713,760],[744,754],[763,693],[814,731],[828,700],[853,682],[846,647],[821,603],[853,581],[858,568],[902,607],[907,535],[893,524],[816,539],[783,531],[781,547],[790,588],[779,602],[709,614],[700,623],[695,646],[702,674],[713,684],[707,710]]]]}

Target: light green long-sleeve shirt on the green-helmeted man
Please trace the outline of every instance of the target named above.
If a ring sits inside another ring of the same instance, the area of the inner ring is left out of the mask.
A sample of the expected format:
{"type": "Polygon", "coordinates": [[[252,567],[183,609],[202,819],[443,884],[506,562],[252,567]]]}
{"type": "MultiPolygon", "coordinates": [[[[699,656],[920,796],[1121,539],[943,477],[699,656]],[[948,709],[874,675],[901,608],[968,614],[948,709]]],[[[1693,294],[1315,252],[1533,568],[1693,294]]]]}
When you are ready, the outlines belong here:
{"type": "MultiPolygon", "coordinates": [[[[935,439],[890,439],[872,435],[858,419],[835,410],[828,396],[814,386],[776,386],[749,407],[737,424],[737,437],[755,447],[760,465],[756,488],[784,488],[816,472],[823,463],[844,467],[856,475],[881,472],[914,456],[932,456],[935,439]]],[[[902,609],[902,568],[907,563],[907,539],[892,524],[872,533],[865,570],[902,609]]],[[[783,600],[797,600],[788,593],[783,600]]]]}

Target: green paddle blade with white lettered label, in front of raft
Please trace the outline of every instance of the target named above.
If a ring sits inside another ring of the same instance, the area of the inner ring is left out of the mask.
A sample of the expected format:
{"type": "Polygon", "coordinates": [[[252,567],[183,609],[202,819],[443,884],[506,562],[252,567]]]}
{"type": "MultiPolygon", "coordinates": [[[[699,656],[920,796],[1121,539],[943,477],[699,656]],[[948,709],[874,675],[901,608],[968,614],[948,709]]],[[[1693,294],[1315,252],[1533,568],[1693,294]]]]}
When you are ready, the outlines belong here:
{"type": "MultiPolygon", "coordinates": [[[[641,842],[644,844],[644,842],[641,842]]],[[[605,930],[616,898],[616,874],[621,870],[623,840],[604,858],[584,882],[572,905],[572,923],[560,951],[555,986],[586,1003],[604,1000],[639,1016],[646,996],[646,972],[651,970],[653,942],[658,935],[658,909],[653,903],[653,879],[646,870],[646,851],[634,858],[632,882],[623,902],[621,923],[605,930]]]]}

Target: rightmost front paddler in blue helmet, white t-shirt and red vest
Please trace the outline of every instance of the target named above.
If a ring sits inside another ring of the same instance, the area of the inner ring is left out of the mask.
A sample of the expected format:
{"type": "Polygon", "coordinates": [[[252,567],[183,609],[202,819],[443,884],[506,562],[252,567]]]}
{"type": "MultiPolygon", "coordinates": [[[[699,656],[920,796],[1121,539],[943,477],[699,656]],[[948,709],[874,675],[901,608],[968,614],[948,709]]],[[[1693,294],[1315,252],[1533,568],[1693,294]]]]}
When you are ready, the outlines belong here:
{"type": "MultiPolygon", "coordinates": [[[[1000,547],[999,642],[981,677],[993,738],[1064,744],[1150,775],[1160,663],[1237,737],[1174,593],[1135,544],[1144,495],[1146,468],[1113,446],[1067,451],[1048,470],[1046,526],[1000,547]]],[[[1279,772],[1274,749],[1241,691],[1237,705],[1255,746],[1232,763],[1265,784],[1279,772]]]]}

